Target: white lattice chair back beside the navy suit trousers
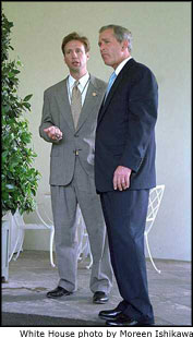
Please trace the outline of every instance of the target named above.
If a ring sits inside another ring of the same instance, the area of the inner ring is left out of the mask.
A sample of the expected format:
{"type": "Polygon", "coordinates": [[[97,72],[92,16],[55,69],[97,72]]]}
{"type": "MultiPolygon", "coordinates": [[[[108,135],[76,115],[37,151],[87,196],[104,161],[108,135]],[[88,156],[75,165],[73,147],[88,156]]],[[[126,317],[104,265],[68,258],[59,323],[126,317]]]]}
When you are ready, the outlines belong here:
{"type": "Polygon", "coordinates": [[[156,185],[155,188],[150,189],[149,197],[148,197],[148,209],[147,209],[147,217],[146,217],[146,229],[145,232],[148,233],[154,225],[156,219],[162,195],[165,191],[165,184],[156,185]]]}

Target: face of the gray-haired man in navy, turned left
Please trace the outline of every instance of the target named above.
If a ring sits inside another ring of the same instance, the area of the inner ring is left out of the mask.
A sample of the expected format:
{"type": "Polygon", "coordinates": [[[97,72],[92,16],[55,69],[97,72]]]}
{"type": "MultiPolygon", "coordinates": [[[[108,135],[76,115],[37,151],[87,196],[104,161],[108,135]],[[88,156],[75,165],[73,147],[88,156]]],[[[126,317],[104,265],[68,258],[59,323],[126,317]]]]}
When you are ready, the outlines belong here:
{"type": "Polygon", "coordinates": [[[109,28],[99,34],[98,46],[105,64],[116,69],[124,60],[124,43],[119,43],[116,39],[113,29],[109,28]]]}

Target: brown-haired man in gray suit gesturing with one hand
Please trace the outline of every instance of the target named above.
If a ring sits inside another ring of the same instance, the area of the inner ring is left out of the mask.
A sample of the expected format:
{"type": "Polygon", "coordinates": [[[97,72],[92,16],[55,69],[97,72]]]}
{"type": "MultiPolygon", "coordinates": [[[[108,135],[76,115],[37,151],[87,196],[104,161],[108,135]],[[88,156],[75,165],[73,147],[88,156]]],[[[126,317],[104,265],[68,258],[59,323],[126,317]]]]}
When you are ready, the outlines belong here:
{"type": "Polygon", "coordinates": [[[109,248],[100,201],[94,183],[97,114],[106,83],[87,72],[89,43],[71,33],[62,52],[70,74],[44,94],[40,136],[52,143],[50,186],[59,285],[49,298],[69,295],[77,288],[75,214],[80,205],[93,254],[89,287],[93,302],[104,304],[112,285],[109,248]]]}

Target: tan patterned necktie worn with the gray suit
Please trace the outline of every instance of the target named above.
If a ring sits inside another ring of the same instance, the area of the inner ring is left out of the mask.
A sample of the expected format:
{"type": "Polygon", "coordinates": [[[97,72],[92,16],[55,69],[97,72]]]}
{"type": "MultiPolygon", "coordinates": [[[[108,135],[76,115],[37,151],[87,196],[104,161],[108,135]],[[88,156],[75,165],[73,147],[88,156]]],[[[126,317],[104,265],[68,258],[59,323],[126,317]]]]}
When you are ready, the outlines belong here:
{"type": "Polygon", "coordinates": [[[72,89],[72,98],[71,98],[71,111],[74,119],[74,125],[77,126],[79,117],[82,109],[82,97],[81,92],[79,89],[79,81],[75,81],[73,89],[72,89]]]}

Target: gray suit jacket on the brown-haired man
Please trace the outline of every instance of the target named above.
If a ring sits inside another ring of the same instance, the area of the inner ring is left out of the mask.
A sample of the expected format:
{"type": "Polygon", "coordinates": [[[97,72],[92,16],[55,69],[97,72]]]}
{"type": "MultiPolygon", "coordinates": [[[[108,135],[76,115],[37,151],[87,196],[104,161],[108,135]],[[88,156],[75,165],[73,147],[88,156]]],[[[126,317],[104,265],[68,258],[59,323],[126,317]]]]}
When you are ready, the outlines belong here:
{"type": "Polygon", "coordinates": [[[87,88],[85,101],[75,130],[69,104],[67,79],[49,87],[44,93],[43,118],[39,126],[40,136],[52,143],[50,161],[50,184],[67,185],[74,172],[75,156],[87,174],[94,178],[95,131],[98,111],[107,84],[94,76],[87,88]],[[59,126],[63,138],[51,141],[44,132],[50,125],[59,126]]]}

